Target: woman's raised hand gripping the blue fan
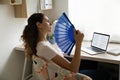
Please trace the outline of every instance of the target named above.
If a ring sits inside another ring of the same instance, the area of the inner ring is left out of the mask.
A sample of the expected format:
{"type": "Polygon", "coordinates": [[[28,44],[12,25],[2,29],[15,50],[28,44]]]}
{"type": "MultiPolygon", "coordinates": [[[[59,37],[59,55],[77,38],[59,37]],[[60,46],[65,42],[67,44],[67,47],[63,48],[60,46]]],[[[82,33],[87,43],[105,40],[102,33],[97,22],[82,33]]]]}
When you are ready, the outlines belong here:
{"type": "Polygon", "coordinates": [[[74,38],[76,41],[76,45],[81,45],[81,42],[84,38],[84,34],[82,32],[80,32],[79,30],[74,30],[74,38]]]}

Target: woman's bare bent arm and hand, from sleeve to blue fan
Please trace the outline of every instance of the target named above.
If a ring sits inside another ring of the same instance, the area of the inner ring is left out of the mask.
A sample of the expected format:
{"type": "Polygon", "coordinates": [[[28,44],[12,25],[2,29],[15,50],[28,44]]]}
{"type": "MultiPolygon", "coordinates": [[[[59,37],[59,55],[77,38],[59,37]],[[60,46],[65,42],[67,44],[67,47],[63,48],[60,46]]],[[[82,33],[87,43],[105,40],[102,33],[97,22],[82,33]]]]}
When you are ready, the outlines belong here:
{"type": "Polygon", "coordinates": [[[77,33],[76,33],[76,30],[75,30],[74,37],[75,37],[75,41],[76,41],[76,45],[75,45],[76,48],[75,48],[75,54],[73,56],[72,61],[69,62],[67,59],[65,59],[59,55],[56,55],[52,59],[52,61],[65,69],[68,69],[73,72],[78,72],[79,66],[80,66],[80,60],[81,60],[81,58],[80,58],[81,43],[82,43],[84,35],[80,31],[77,31],[77,33]]]}

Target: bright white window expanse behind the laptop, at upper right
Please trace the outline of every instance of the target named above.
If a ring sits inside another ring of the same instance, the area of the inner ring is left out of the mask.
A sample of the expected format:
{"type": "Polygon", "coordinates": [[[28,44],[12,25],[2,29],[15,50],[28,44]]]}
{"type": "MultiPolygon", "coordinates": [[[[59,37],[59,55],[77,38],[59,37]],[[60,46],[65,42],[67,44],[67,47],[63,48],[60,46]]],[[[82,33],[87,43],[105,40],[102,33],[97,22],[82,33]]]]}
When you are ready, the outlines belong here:
{"type": "Polygon", "coordinates": [[[119,0],[70,0],[69,17],[88,40],[97,31],[110,34],[111,41],[120,42],[119,0]]]}

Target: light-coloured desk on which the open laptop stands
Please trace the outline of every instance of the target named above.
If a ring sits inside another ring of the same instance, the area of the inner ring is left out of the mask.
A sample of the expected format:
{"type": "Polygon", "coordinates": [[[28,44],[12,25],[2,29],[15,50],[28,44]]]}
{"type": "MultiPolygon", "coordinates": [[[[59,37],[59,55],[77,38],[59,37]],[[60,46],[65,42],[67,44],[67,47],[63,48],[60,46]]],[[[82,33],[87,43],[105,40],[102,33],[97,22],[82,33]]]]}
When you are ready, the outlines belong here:
{"type": "MultiPolygon", "coordinates": [[[[88,46],[88,45],[90,45],[90,42],[83,42],[83,44],[82,44],[82,46],[88,46]]],[[[112,43],[110,43],[108,45],[108,50],[113,49],[113,48],[119,48],[119,47],[120,47],[120,44],[112,44],[112,43]]],[[[16,47],[16,50],[24,51],[24,48],[21,47],[21,46],[18,46],[18,47],[16,47]]],[[[72,50],[72,53],[71,53],[71,56],[73,56],[73,55],[74,55],[74,49],[72,50]]],[[[99,62],[107,62],[107,63],[118,64],[119,65],[119,80],[120,80],[120,55],[119,56],[114,56],[114,55],[107,54],[107,53],[97,54],[97,55],[90,55],[90,54],[87,54],[85,52],[81,52],[81,58],[84,59],[84,60],[92,60],[92,61],[99,61],[99,62]]]]}

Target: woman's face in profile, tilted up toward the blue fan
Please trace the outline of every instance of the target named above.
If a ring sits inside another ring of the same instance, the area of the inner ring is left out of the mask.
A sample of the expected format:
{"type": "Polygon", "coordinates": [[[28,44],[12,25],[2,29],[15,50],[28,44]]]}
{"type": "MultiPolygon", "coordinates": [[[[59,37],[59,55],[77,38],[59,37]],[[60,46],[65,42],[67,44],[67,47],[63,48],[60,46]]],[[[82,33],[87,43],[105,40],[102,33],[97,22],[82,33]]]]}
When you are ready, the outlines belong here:
{"type": "Polygon", "coordinates": [[[44,16],[42,23],[40,23],[40,30],[45,34],[51,32],[51,23],[47,16],[44,16]]]}

